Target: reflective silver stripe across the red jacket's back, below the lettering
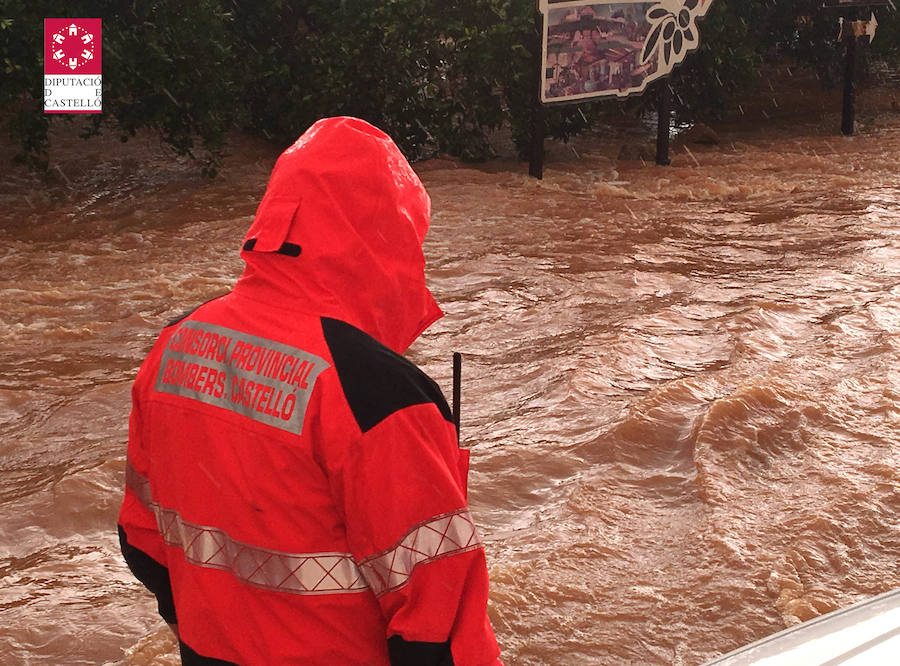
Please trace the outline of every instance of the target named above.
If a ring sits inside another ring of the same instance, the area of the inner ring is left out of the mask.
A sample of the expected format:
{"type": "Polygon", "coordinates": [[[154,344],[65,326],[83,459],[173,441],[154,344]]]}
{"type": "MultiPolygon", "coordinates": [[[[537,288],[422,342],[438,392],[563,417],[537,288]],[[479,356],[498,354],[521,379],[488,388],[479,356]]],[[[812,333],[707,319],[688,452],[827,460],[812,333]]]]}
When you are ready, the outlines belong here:
{"type": "Polygon", "coordinates": [[[231,572],[247,585],[291,594],[358,593],[369,589],[350,553],[285,553],[232,539],[216,527],[184,520],[153,501],[150,482],[129,462],[125,484],[156,515],[163,540],[200,567],[231,572]]]}

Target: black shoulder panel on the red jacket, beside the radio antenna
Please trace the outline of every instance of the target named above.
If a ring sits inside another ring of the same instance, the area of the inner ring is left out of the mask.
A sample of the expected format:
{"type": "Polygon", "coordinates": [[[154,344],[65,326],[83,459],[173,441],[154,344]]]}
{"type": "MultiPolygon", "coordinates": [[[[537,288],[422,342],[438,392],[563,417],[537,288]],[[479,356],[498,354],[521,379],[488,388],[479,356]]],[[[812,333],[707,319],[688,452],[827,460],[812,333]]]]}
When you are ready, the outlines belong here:
{"type": "Polygon", "coordinates": [[[371,430],[404,407],[429,402],[453,422],[437,384],[405,358],[337,319],[323,317],[322,332],[360,430],[371,430]]]}

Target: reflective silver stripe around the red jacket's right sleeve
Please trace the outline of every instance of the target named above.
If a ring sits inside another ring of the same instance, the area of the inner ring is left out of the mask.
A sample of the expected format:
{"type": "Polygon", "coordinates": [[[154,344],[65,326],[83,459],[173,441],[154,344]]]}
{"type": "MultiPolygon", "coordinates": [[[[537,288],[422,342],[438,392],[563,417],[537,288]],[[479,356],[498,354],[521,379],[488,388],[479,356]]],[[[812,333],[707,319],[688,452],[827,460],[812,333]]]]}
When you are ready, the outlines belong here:
{"type": "Polygon", "coordinates": [[[406,585],[413,569],[442,557],[481,548],[481,539],[468,509],[459,509],[420,523],[388,550],[360,564],[376,596],[406,585]]]}

